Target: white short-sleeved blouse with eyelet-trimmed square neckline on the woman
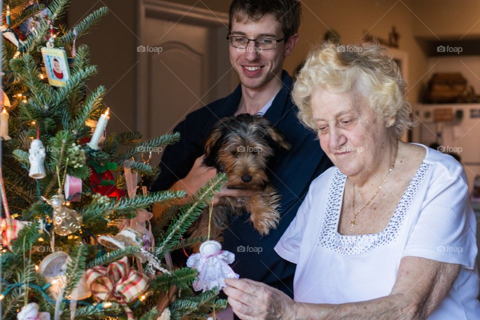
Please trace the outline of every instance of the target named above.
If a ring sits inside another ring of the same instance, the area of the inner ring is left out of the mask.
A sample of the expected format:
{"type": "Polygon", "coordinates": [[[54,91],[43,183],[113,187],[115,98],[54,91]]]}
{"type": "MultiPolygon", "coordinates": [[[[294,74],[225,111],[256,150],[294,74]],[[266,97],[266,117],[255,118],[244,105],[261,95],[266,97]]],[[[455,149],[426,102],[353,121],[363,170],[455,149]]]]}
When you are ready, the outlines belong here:
{"type": "Polygon", "coordinates": [[[338,233],[346,176],[336,167],[312,181],[275,246],[281,257],[297,264],[295,301],[345,303],[388,295],[400,259],[418,256],[461,264],[447,296],[428,319],[480,319],[476,222],[466,176],[453,157],[424,147],[423,162],[378,233],[338,233]]]}

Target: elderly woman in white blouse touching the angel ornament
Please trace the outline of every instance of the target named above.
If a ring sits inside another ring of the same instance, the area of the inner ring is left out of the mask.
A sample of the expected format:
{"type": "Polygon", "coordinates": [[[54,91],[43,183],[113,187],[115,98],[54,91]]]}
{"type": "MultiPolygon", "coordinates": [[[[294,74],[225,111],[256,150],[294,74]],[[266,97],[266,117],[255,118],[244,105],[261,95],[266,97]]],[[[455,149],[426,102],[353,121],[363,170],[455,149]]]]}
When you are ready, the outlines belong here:
{"type": "Polygon", "coordinates": [[[313,49],[293,89],[335,164],[316,178],[276,252],[294,300],[248,279],[224,292],[242,319],[479,319],[475,218],[456,160],[399,140],[406,83],[376,44],[313,49]]]}

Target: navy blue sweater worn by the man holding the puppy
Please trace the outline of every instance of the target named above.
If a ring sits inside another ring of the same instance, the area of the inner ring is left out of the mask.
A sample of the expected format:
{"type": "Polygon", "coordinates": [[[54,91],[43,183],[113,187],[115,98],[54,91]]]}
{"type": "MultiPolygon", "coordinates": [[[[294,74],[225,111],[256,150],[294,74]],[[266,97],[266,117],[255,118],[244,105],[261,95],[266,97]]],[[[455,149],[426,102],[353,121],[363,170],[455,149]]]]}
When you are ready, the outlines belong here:
{"type": "MultiPolygon", "coordinates": [[[[248,214],[234,217],[223,233],[223,249],[235,254],[233,270],[243,278],[261,281],[293,296],[295,264],[282,259],[273,250],[296,214],[310,182],[332,164],[321,150],[315,134],[296,118],[298,107],[291,100],[291,77],[283,70],[283,87],[277,93],[265,117],[291,144],[270,161],[270,182],[281,195],[281,220],[276,230],[260,236],[248,221],[248,214]]],[[[203,154],[203,146],[213,124],[221,117],[233,115],[241,97],[241,87],[228,96],[189,113],[173,131],[181,134],[179,142],[165,148],[159,167],[161,174],[152,190],[168,189],[186,176],[193,162],[203,154]]]]}

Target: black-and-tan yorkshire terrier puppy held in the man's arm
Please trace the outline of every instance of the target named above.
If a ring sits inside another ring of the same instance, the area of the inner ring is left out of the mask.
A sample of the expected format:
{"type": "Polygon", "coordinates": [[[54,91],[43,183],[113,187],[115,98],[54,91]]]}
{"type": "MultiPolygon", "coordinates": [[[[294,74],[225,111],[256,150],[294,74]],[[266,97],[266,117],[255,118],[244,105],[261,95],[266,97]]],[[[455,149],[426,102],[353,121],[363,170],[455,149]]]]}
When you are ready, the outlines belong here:
{"type": "MultiPolygon", "coordinates": [[[[280,196],[268,184],[267,163],[277,148],[289,149],[283,135],[264,117],[248,113],[220,119],[210,131],[205,143],[203,164],[224,172],[228,188],[248,189],[250,197],[225,197],[225,205],[213,206],[210,238],[221,240],[232,215],[246,209],[253,226],[261,235],[276,228],[280,214],[276,210],[280,196]]],[[[208,232],[209,208],[206,207],[193,225],[192,236],[208,232]]]]}

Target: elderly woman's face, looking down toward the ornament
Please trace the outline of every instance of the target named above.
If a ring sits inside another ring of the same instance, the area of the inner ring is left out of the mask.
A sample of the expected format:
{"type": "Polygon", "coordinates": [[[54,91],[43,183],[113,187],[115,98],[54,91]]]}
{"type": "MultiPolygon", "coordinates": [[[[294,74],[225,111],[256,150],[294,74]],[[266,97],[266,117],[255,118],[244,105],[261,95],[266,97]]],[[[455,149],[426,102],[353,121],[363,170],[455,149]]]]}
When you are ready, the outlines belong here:
{"type": "Polygon", "coordinates": [[[320,146],[345,175],[374,171],[389,142],[386,122],[356,91],[336,94],[316,88],[311,95],[313,120],[320,146]]]}

